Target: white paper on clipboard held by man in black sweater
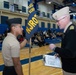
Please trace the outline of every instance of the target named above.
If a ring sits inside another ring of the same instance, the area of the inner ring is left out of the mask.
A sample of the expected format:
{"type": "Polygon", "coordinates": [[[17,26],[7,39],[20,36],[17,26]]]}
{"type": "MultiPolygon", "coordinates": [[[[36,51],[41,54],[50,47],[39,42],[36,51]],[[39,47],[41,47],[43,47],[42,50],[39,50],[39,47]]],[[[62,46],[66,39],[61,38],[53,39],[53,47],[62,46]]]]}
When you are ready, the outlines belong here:
{"type": "Polygon", "coordinates": [[[44,65],[61,68],[61,60],[59,57],[55,57],[52,55],[44,55],[44,65]]]}

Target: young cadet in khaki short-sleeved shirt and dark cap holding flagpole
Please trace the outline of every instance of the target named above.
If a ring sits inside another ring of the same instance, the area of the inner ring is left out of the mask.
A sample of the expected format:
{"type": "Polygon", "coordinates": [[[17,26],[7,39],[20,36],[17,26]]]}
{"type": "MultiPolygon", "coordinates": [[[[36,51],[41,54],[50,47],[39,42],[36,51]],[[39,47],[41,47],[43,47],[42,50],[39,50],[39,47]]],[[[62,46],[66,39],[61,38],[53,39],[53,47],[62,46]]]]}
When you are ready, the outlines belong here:
{"type": "Polygon", "coordinates": [[[17,40],[18,35],[22,35],[21,18],[8,19],[6,23],[9,27],[9,33],[2,44],[2,55],[4,60],[3,75],[23,75],[20,63],[20,49],[27,42],[25,39],[21,44],[17,40]]]}

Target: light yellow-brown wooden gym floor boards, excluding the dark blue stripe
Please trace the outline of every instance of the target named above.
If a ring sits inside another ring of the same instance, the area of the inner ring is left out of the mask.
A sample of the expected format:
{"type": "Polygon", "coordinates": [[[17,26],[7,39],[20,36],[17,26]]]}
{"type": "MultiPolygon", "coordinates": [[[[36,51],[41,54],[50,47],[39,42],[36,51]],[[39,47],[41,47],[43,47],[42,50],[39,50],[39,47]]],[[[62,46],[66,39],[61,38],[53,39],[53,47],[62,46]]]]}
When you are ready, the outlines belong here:
{"type": "MultiPolygon", "coordinates": [[[[56,44],[60,46],[59,44],[56,44]]],[[[49,50],[48,45],[43,47],[34,47],[31,48],[31,58],[41,56],[44,54],[51,53],[52,51],[49,50]]],[[[20,52],[20,59],[24,60],[29,58],[29,48],[21,49],[20,52]]],[[[0,66],[3,65],[2,53],[0,52],[0,66]]],[[[23,64],[23,73],[24,75],[63,75],[62,69],[53,68],[45,66],[43,63],[43,59],[38,59],[30,64],[30,72],[29,72],[29,63],[23,64]],[[30,73],[30,74],[29,74],[30,73]]],[[[2,71],[0,71],[0,75],[2,75],[2,71]]]]}

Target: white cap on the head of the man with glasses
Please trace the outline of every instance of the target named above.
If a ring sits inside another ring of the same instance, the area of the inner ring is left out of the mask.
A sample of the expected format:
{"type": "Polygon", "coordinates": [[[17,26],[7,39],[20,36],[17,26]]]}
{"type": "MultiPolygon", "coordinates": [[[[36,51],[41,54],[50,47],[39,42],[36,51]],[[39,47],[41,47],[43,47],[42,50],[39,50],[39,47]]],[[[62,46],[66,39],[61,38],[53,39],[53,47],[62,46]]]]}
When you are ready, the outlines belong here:
{"type": "Polygon", "coordinates": [[[69,7],[64,7],[62,9],[58,10],[52,16],[55,20],[59,20],[60,18],[63,18],[66,15],[70,15],[69,14],[69,7]]]}

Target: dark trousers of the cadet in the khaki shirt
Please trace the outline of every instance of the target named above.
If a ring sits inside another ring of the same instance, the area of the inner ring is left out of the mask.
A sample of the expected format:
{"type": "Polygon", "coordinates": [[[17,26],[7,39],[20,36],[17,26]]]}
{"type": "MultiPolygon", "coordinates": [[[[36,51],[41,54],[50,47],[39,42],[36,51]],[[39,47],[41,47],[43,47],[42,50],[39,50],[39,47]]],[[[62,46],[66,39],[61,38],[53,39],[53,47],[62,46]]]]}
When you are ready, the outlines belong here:
{"type": "Polygon", "coordinates": [[[14,66],[4,66],[2,75],[17,75],[14,66]]]}

